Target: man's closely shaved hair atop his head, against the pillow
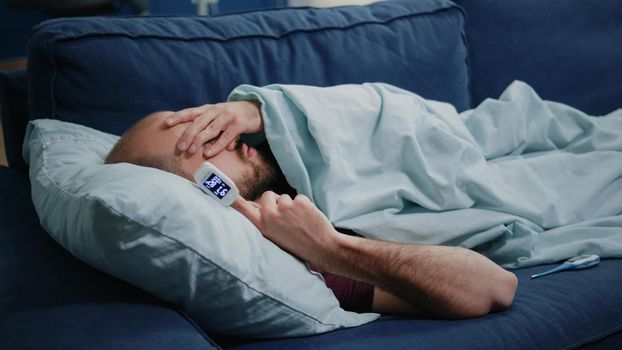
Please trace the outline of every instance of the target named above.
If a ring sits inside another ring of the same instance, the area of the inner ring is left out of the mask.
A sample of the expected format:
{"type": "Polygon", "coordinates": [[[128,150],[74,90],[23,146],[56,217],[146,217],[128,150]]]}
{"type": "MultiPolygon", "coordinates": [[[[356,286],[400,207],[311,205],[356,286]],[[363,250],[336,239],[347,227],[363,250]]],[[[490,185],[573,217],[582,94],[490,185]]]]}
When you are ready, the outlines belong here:
{"type": "MultiPolygon", "coordinates": [[[[134,137],[137,136],[137,130],[146,119],[153,117],[156,113],[159,112],[147,115],[123,133],[119,141],[117,141],[110,153],[108,153],[108,156],[106,156],[105,164],[132,163],[164,170],[188,178],[181,166],[180,159],[175,154],[148,154],[135,150],[134,137]]],[[[154,140],[154,142],[157,142],[157,140],[154,140]]]]}

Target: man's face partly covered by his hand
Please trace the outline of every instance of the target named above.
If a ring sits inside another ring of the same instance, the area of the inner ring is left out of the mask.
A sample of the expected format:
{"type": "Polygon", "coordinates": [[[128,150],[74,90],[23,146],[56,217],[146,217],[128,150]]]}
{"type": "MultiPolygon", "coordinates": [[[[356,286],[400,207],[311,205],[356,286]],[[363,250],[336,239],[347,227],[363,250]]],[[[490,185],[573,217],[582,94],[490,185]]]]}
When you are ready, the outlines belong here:
{"type": "MultiPolygon", "coordinates": [[[[167,127],[164,120],[171,113],[157,113],[145,125],[144,134],[140,134],[141,151],[152,154],[175,154],[184,172],[190,176],[207,160],[229,176],[240,190],[240,195],[249,200],[255,199],[273,185],[277,176],[277,165],[269,148],[260,148],[258,151],[239,142],[235,150],[224,149],[210,158],[206,158],[201,151],[194,154],[181,152],[177,149],[176,143],[190,123],[167,127]]],[[[192,178],[188,180],[194,182],[192,178]]]]}

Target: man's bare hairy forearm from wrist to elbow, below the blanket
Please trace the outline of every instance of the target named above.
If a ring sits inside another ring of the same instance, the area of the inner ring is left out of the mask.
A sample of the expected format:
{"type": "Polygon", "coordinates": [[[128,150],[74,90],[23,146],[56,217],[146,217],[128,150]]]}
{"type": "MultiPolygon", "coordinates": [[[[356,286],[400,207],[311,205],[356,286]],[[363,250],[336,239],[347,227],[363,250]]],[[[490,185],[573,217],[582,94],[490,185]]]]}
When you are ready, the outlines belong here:
{"type": "Polygon", "coordinates": [[[473,251],[331,236],[333,248],[318,262],[323,269],[373,284],[432,317],[477,317],[514,297],[516,277],[473,251]]]}

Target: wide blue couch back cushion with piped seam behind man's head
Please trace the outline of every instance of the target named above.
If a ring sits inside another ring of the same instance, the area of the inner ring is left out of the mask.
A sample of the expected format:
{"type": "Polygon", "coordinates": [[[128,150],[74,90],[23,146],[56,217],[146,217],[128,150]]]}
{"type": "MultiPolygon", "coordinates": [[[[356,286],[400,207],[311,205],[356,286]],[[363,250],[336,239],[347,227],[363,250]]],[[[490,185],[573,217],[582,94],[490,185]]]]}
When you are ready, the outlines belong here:
{"type": "Polygon", "coordinates": [[[156,110],[224,101],[242,83],[365,81],[462,110],[469,105],[462,26],[448,0],[47,21],[29,43],[30,116],[120,134],[156,110]]]}

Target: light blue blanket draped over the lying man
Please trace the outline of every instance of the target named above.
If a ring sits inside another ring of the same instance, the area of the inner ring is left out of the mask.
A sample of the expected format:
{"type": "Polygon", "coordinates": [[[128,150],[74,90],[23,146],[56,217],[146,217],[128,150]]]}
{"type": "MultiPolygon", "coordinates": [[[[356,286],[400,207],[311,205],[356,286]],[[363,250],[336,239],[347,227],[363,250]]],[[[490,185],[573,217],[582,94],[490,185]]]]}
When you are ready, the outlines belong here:
{"type": "Polygon", "coordinates": [[[514,82],[458,114],[386,84],[239,86],[288,182],[335,226],[477,250],[505,267],[622,257],[622,109],[514,82]]]}

